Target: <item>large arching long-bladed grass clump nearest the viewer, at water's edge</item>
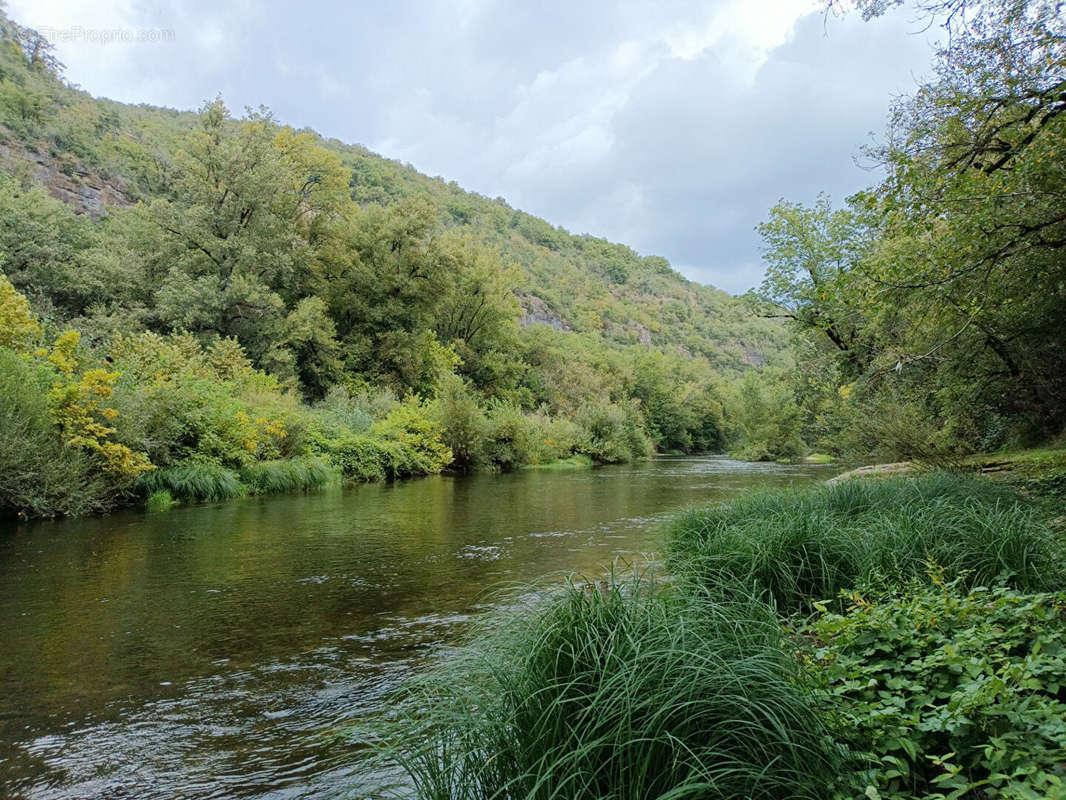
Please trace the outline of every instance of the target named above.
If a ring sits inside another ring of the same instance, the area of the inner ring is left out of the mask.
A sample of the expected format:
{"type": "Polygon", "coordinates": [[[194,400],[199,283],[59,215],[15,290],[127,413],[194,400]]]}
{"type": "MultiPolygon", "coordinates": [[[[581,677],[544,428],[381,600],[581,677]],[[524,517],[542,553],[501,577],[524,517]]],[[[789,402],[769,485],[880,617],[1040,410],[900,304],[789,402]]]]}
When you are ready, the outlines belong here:
{"type": "Polygon", "coordinates": [[[385,734],[409,797],[822,797],[837,751],[764,605],[646,578],[534,605],[409,690],[385,734]]]}

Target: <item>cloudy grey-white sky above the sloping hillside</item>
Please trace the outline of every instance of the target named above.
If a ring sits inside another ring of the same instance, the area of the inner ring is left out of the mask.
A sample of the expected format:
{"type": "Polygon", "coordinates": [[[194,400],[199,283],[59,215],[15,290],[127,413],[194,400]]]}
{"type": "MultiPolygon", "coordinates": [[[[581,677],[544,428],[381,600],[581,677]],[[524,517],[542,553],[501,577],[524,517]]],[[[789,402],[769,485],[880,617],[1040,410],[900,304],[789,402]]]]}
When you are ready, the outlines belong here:
{"type": "Polygon", "coordinates": [[[739,292],[781,197],[857,157],[930,65],[906,11],[817,0],[9,0],[94,95],[265,105],[572,233],[739,292]]]}

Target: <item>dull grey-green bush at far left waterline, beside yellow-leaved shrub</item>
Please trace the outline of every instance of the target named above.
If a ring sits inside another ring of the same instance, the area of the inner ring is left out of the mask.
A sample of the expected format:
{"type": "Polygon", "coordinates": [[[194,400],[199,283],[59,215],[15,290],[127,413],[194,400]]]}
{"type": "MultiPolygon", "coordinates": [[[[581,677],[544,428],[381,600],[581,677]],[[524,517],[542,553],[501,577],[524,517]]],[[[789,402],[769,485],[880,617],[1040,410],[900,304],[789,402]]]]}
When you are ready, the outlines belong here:
{"type": "Polygon", "coordinates": [[[79,516],[108,511],[125,486],[92,455],[63,443],[48,409],[53,375],[0,348],[0,515],[79,516]]]}

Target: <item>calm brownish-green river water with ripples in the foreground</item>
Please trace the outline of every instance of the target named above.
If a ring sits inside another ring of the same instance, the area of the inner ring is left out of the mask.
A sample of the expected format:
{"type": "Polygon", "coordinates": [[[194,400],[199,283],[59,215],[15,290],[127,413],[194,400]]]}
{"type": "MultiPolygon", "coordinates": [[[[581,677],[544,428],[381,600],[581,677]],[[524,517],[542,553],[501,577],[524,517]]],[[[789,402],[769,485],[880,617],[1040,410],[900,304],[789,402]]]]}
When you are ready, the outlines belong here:
{"type": "Polygon", "coordinates": [[[835,471],[662,458],[0,529],[0,797],[358,797],[351,730],[506,587],[835,471]]]}

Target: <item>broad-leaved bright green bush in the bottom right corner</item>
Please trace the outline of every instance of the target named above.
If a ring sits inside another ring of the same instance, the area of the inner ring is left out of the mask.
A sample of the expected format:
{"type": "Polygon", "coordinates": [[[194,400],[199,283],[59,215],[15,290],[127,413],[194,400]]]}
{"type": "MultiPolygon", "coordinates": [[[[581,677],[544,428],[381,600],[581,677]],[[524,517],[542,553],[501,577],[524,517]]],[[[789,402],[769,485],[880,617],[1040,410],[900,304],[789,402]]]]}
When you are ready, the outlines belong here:
{"type": "Polygon", "coordinates": [[[835,797],[1066,797],[1066,594],[911,583],[803,633],[855,754],[835,797]]]}

